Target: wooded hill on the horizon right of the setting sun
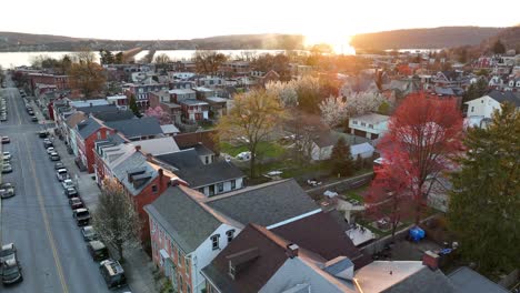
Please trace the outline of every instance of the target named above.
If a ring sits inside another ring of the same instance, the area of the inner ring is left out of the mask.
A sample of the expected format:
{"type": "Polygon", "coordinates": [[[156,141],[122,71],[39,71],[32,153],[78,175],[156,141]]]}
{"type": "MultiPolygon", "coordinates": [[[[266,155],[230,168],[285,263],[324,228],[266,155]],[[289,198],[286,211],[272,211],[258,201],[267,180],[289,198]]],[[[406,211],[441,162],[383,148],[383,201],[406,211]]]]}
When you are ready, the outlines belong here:
{"type": "Polygon", "coordinates": [[[476,46],[501,31],[503,28],[440,27],[362,33],[352,37],[350,44],[356,49],[442,49],[476,46]]]}

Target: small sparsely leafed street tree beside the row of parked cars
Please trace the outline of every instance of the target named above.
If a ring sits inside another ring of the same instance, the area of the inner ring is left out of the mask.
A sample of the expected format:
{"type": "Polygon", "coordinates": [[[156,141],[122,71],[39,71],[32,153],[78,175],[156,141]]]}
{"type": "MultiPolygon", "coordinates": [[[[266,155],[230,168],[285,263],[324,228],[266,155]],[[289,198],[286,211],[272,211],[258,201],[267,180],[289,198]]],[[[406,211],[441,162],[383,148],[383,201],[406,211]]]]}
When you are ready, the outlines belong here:
{"type": "Polygon", "coordinates": [[[139,245],[141,221],[132,199],[114,180],[104,180],[99,204],[93,213],[93,226],[103,242],[123,257],[124,247],[139,245]]]}

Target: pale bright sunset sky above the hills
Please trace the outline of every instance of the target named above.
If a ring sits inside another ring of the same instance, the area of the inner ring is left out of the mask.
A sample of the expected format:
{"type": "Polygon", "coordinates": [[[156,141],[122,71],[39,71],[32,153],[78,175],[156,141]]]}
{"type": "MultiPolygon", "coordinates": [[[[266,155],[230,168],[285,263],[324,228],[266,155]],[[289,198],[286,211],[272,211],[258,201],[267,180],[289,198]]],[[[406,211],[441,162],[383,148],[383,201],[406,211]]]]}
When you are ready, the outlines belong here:
{"type": "Polygon", "coordinates": [[[174,40],[242,33],[299,33],[308,43],[447,26],[520,23],[520,0],[6,0],[0,31],[118,40],[174,40]],[[427,3],[431,3],[428,6],[427,3]]]}

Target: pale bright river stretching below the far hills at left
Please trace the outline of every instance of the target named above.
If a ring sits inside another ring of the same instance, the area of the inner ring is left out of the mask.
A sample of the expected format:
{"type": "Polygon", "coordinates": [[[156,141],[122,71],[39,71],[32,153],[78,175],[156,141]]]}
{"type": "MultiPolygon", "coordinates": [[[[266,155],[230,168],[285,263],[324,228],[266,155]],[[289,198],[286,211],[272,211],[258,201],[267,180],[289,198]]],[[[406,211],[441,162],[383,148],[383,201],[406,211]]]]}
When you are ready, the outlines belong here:
{"type": "MultiPolygon", "coordinates": [[[[231,57],[239,57],[242,53],[279,53],[283,52],[283,50],[218,50],[227,55],[231,57]]],[[[193,57],[196,50],[158,50],[156,55],[158,54],[167,54],[170,57],[171,60],[189,60],[193,57]]],[[[148,53],[148,50],[143,50],[139,52],[134,59],[140,60],[148,53]]],[[[0,52],[0,65],[4,69],[21,67],[21,65],[30,65],[31,61],[39,55],[48,55],[54,59],[61,59],[63,55],[69,54],[73,55],[74,52],[0,52]]],[[[94,52],[96,58],[99,61],[99,53],[94,52]]]]}

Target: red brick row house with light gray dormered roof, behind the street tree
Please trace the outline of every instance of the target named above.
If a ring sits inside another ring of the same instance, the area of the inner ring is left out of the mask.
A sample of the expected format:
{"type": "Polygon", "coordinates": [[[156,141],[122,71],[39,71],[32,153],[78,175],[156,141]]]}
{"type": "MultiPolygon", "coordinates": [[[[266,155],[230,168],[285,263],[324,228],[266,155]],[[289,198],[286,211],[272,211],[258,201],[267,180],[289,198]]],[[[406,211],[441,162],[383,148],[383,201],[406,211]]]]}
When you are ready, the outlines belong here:
{"type": "Polygon", "coordinates": [[[123,186],[143,222],[141,241],[149,244],[150,224],[144,206],[157,200],[170,186],[172,180],[176,184],[184,183],[176,174],[150,163],[140,145],[126,144],[127,142],[118,135],[96,142],[96,180],[101,189],[104,179],[114,179],[123,186]]]}

